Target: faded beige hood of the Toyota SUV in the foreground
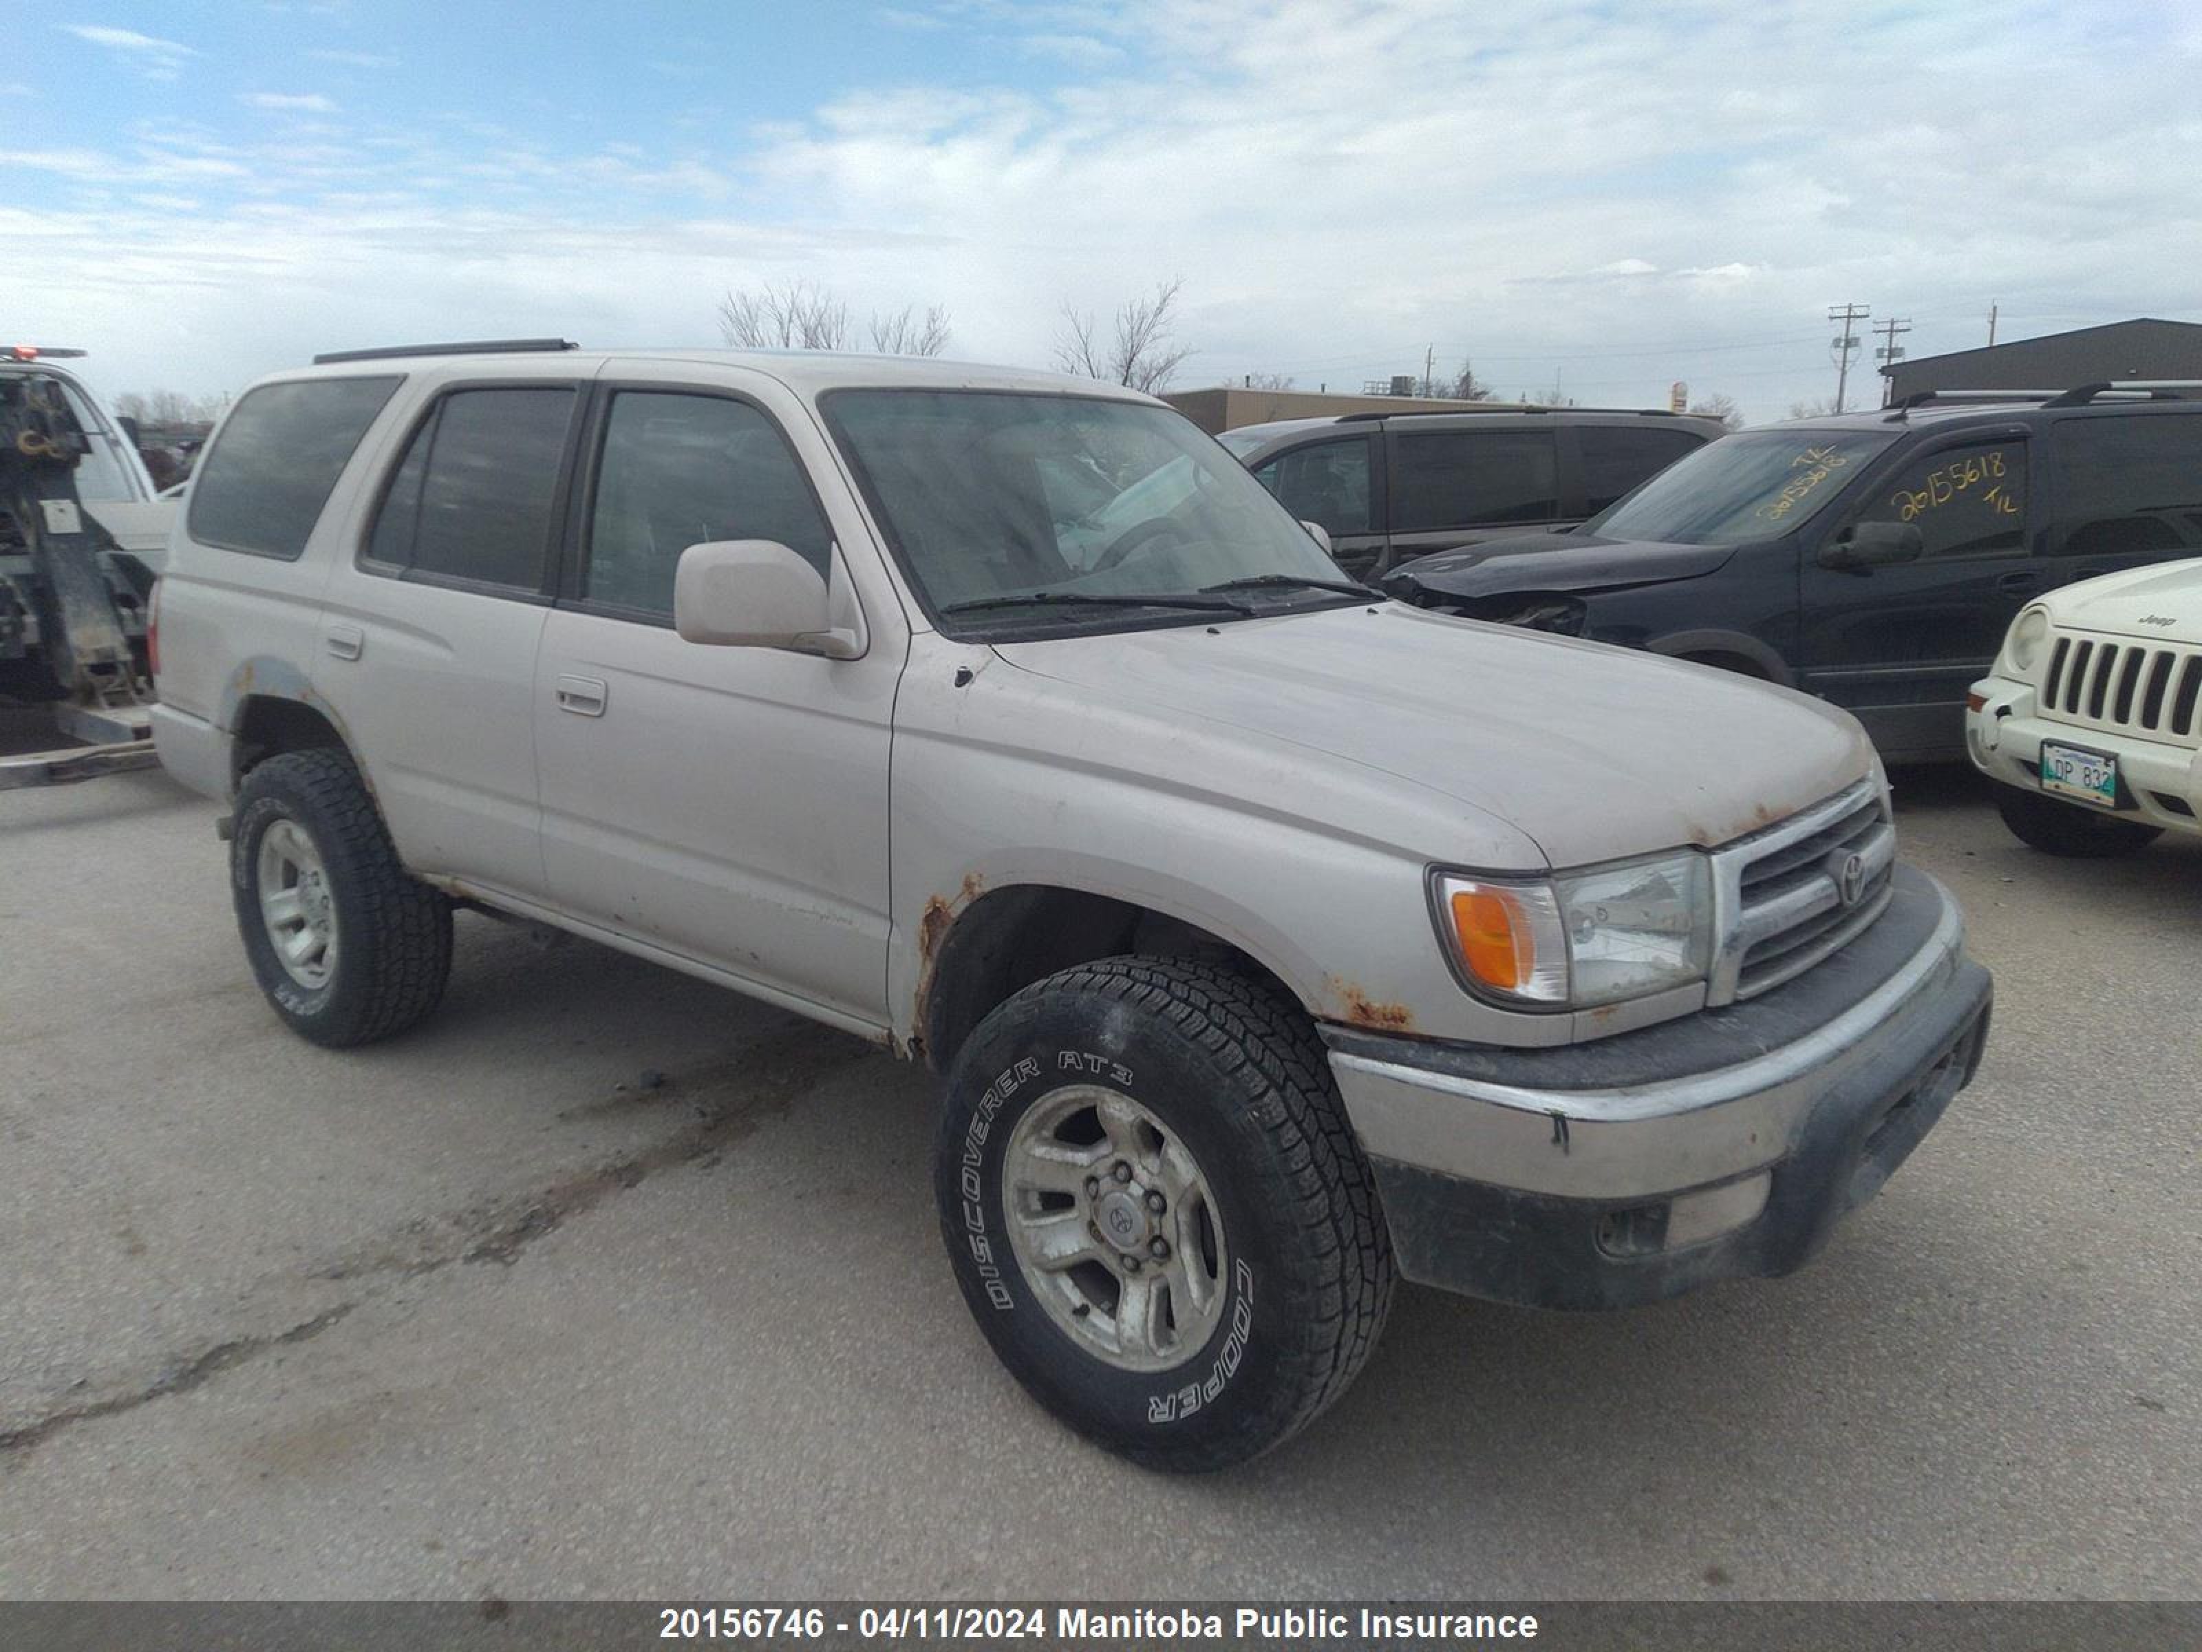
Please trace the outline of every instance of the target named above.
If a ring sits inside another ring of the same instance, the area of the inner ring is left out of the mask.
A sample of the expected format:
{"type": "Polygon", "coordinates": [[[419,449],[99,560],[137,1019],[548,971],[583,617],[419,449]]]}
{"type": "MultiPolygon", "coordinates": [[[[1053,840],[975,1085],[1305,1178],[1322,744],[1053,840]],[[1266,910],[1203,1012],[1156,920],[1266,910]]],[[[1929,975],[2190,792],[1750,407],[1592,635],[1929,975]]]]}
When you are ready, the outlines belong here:
{"type": "MultiPolygon", "coordinates": [[[[1284,758],[1288,789],[1249,795],[1249,806],[1299,797],[1299,813],[1337,813],[1339,793],[1367,786],[1326,786],[1326,769],[1389,778],[1378,802],[1354,804],[1387,817],[1337,824],[1385,835],[1436,802],[1460,830],[1416,846],[1431,859],[1493,841],[1493,822],[1555,868],[1711,848],[1874,771],[1865,731],[1801,694],[1400,604],[995,652],[1077,687],[1090,722],[1116,714],[1152,729],[1233,731],[1257,758],[1242,795],[1284,758]],[[1381,802],[1385,791],[1396,808],[1381,802]],[[1315,804],[1323,793],[1332,797],[1315,804]]],[[[1233,780],[1211,773],[1224,789],[1233,780]]]]}

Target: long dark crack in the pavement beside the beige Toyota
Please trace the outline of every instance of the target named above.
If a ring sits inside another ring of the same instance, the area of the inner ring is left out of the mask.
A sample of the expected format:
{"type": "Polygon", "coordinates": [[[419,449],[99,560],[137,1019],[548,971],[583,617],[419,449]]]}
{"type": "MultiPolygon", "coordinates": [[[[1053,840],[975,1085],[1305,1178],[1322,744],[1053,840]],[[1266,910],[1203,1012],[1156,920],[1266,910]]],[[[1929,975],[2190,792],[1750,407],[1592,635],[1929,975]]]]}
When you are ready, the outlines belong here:
{"type": "MultiPolygon", "coordinates": [[[[694,1121],[663,1141],[566,1176],[550,1187],[520,1198],[500,1198],[454,1216],[410,1222],[394,1240],[385,1240],[381,1247],[357,1253],[350,1260],[315,1269],[306,1278],[321,1282],[383,1278],[396,1282],[438,1273],[454,1262],[511,1267],[528,1245],[557,1231],[568,1218],[595,1209],[608,1196],[639,1187],[661,1170],[718,1163],[718,1154],[724,1148],[749,1137],[766,1119],[786,1115],[797,1097],[874,1055],[879,1051],[872,1044],[810,1024],[773,1033],[724,1062],[667,1079],[665,1090],[658,1090],[658,1095],[672,1093],[689,1099],[694,1121]],[[720,1090],[720,1095],[713,1097],[713,1090],[720,1090]],[[405,1238],[412,1238],[412,1245],[405,1245],[405,1238]]],[[[372,1302],[383,1289],[390,1286],[361,1291],[352,1300],[337,1302],[288,1330],[220,1341],[189,1359],[170,1363],[159,1379],[143,1388],[68,1405],[0,1432],[0,1463],[20,1458],[77,1423],[132,1412],[165,1394],[185,1394],[249,1359],[310,1341],[372,1302]]]]}

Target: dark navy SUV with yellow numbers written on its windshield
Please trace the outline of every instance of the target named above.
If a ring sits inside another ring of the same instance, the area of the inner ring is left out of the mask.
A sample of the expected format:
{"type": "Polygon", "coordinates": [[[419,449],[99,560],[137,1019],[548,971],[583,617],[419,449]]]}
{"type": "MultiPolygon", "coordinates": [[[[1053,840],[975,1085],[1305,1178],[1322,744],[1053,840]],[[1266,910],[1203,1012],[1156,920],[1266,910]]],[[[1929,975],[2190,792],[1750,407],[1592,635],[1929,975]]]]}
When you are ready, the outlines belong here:
{"type": "Polygon", "coordinates": [[[1942,392],[1746,430],[1572,533],[1385,588],[1764,676],[1856,714],[1889,760],[1960,758],[1966,687],[2028,599],[2202,555],[2195,390],[1942,392]]]}

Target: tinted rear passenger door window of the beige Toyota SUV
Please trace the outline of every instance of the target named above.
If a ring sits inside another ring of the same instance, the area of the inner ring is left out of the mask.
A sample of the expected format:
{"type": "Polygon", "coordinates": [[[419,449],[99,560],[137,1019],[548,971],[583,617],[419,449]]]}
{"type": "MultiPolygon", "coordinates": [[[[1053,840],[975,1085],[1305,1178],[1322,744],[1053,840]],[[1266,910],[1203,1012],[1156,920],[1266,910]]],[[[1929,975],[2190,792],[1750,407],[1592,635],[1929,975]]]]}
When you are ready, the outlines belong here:
{"type": "Polygon", "coordinates": [[[372,562],[539,590],[573,385],[454,390],[414,432],[374,513],[372,562]]]}

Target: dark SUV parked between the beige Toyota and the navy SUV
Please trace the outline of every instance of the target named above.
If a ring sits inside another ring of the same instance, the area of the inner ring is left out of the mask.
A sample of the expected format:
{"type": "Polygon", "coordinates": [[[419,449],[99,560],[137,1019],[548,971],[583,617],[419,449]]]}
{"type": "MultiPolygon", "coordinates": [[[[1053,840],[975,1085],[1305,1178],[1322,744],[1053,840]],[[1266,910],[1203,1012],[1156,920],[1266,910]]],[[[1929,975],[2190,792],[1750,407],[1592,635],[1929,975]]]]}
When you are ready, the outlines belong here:
{"type": "Polygon", "coordinates": [[[1718,419],[1603,407],[1282,419],[1220,441],[1359,577],[1524,529],[1566,529],[1722,436],[1718,419]]]}

